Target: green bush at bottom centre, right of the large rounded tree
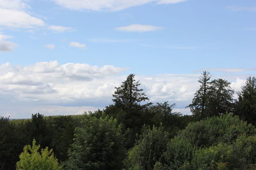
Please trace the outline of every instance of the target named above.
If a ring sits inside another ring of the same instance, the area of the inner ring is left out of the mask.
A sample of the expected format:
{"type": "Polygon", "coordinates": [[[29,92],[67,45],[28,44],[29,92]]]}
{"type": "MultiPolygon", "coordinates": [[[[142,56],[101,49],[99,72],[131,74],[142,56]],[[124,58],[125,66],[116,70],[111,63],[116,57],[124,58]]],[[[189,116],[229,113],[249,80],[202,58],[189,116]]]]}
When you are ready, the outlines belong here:
{"type": "Polygon", "coordinates": [[[154,169],[156,162],[163,162],[167,143],[168,132],[164,132],[162,127],[150,129],[144,126],[136,145],[129,151],[126,166],[130,169],[154,169]]]}

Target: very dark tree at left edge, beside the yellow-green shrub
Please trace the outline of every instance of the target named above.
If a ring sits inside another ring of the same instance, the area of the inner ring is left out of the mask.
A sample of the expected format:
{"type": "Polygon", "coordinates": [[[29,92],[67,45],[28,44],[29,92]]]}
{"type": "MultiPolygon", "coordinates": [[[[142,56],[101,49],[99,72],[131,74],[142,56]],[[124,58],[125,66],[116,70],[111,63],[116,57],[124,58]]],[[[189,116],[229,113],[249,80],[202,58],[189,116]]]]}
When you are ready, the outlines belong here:
{"type": "Polygon", "coordinates": [[[15,169],[22,145],[19,142],[19,132],[9,118],[0,117],[0,169],[15,169]]]}

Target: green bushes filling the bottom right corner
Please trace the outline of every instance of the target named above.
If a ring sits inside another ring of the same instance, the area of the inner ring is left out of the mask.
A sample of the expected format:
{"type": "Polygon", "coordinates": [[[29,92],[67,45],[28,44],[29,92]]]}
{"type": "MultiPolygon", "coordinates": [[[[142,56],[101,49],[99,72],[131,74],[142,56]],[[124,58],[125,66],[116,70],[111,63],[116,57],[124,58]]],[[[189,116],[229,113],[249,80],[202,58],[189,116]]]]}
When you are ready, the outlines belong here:
{"type": "Polygon", "coordinates": [[[241,136],[232,145],[196,150],[187,169],[255,169],[256,136],[241,136]]]}

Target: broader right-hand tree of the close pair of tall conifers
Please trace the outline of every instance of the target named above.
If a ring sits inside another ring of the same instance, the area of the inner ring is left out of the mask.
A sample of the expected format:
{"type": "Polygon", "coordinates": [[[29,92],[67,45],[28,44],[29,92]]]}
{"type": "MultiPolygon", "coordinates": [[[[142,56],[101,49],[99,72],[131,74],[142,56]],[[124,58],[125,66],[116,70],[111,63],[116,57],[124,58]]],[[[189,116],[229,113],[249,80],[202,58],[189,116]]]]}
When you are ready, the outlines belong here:
{"type": "Polygon", "coordinates": [[[231,89],[230,83],[221,78],[211,81],[208,100],[208,117],[220,116],[225,113],[234,112],[233,103],[234,90],[231,89]]]}

